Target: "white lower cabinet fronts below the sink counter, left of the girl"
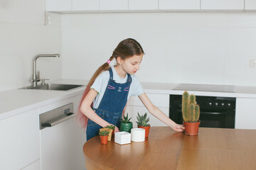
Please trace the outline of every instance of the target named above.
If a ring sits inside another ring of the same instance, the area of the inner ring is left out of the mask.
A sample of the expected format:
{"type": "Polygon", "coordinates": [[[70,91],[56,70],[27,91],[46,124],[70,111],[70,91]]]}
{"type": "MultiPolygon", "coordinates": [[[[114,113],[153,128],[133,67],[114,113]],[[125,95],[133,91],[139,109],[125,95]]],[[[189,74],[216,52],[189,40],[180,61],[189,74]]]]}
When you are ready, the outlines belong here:
{"type": "Polygon", "coordinates": [[[40,130],[39,115],[68,103],[76,115],[81,95],[0,120],[0,169],[85,169],[85,130],[75,117],[40,130]]]}

